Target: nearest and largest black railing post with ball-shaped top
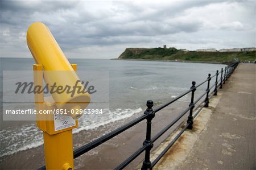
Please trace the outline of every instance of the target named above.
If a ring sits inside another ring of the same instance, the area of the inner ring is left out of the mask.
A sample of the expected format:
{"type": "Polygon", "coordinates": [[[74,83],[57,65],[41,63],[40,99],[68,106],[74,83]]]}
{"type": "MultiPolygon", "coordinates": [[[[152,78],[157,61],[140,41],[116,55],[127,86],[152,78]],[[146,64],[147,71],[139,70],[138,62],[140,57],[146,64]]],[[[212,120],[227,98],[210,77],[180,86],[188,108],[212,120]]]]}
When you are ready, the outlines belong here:
{"type": "Polygon", "coordinates": [[[143,145],[146,146],[145,150],[145,159],[142,164],[142,170],[144,169],[152,169],[152,164],[150,161],[150,150],[153,147],[153,143],[151,140],[151,121],[155,117],[155,112],[153,111],[152,107],[154,102],[151,100],[147,101],[147,110],[144,114],[147,114],[147,131],[146,131],[146,140],[144,140],[143,145]]]}

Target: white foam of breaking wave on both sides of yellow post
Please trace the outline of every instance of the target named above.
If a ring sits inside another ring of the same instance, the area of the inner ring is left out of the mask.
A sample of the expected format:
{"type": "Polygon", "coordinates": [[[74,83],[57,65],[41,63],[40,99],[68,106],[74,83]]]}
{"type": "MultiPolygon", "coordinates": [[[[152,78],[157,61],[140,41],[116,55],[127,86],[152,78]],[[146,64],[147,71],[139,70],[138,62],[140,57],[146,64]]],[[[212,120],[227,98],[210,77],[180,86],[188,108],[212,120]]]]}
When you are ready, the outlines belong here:
{"type": "MultiPolygon", "coordinates": [[[[103,114],[84,115],[79,119],[79,128],[73,130],[73,134],[129,118],[141,111],[142,108],[139,107],[138,109],[105,110],[103,114]]],[[[35,123],[9,127],[0,131],[0,142],[0,157],[12,155],[19,151],[41,146],[43,144],[43,133],[36,127],[35,123]]]]}

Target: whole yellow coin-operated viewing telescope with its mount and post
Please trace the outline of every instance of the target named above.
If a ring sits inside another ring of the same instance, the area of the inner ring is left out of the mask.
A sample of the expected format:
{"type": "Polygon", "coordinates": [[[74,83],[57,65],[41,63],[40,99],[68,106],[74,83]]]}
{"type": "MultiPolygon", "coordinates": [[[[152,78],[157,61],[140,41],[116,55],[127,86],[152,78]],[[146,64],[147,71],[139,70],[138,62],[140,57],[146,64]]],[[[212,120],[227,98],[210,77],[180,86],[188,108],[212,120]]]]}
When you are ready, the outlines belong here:
{"type": "Polygon", "coordinates": [[[36,110],[52,113],[36,117],[44,134],[46,169],[73,169],[72,129],[82,115],[77,111],[88,106],[90,95],[79,92],[84,85],[76,74],[76,64],[69,63],[43,23],[31,24],[27,44],[36,62],[34,85],[43,87],[44,80],[51,93],[51,97],[44,97],[44,92],[35,94],[36,110]]]}

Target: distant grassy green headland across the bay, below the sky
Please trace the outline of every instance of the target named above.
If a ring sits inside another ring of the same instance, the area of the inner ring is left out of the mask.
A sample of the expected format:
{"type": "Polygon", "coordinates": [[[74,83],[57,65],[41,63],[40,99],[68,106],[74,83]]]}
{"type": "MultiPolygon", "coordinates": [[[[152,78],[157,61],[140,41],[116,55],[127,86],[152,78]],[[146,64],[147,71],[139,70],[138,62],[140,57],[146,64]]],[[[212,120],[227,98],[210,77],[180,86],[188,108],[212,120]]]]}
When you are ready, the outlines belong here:
{"type": "Polygon", "coordinates": [[[126,48],[118,59],[144,59],[144,60],[172,60],[229,63],[238,59],[240,61],[254,61],[256,52],[197,52],[183,51],[176,48],[126,48]]]}

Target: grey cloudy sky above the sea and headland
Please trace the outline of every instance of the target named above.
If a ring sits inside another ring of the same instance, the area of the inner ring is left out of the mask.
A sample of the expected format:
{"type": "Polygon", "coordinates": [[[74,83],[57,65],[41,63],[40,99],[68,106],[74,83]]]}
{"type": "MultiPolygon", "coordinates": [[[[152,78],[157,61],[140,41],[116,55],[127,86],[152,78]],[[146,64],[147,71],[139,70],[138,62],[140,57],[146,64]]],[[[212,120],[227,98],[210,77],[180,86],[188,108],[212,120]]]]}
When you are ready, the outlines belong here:
{"type": "Polygon", "coordinates": [[[0,1],[1,57],[31,57],[43,22],[68,58],[110,59],[129,47],[256,47],[255,1],[0,1]]]}

